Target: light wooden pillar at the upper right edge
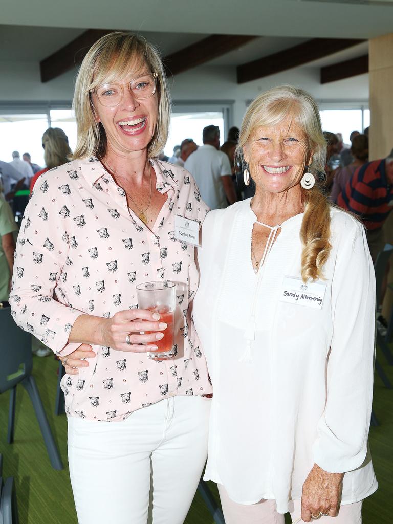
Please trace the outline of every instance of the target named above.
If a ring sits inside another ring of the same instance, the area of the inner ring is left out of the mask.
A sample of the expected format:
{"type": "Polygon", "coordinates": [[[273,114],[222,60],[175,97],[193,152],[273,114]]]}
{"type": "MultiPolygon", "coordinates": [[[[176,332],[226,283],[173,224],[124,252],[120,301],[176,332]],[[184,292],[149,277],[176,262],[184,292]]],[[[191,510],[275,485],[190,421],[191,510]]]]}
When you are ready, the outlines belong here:
{"type": "Polygon", "coordinates": [[[393,33],[369,41],[370,160],[393,149],[393,33]]]}

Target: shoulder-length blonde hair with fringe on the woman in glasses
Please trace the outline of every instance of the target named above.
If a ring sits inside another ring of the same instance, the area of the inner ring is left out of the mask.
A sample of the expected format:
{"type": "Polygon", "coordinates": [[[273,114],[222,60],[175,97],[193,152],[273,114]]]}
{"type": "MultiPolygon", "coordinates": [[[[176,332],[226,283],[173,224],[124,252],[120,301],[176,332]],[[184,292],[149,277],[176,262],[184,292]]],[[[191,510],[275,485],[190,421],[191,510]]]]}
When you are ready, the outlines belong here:
{"type": "Polygon", "coordinates": [[[105,130],[94,119],[89,90],[104,82],[117,81],[130,71],[137,73],[145,65],[152,73],[158,73],[158,121],[147,155],[149,158],[159,155],[167,143],[171,107],[160,54],[145,38],[125,31],[115,31],[94,43],[78,72],[72,104],[78,128],[78,143],[73,159],[91,155],[103,157],[106,153],[105,130]]]}

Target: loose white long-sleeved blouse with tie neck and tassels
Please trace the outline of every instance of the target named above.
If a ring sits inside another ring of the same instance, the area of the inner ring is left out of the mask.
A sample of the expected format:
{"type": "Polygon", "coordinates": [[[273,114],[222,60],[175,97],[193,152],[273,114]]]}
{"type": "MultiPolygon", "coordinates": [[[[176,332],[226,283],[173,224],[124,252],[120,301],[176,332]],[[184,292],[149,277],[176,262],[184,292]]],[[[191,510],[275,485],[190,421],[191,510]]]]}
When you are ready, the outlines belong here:
{"type": "Polygon", "coordinates": [[[314,462],[346,472],[342,504],[377,489],[367,446],[374,269],[361,223],[336,208],[331,218],[325,280],[308,291],[300,281],[303,214],[281,224],[257,274],[250,199],[203,223],[193,318],[213,383],[204,478],[237,503],[275,499],[285,513],[314,462]]]}

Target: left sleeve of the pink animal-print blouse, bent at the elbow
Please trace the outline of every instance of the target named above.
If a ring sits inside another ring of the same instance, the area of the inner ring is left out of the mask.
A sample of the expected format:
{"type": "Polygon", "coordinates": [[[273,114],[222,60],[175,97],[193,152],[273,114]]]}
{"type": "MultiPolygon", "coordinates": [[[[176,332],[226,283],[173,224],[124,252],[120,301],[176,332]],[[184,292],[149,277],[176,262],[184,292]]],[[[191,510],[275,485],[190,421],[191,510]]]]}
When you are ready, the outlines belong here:
{"type": "Polygon", "coordinates": [[[67,355],[80,345],[68,344],[68,338],[83,311],[61,302],[67,302],[59,284],[72,223],[69,212],[61,214],[61,209],[68,208],[56,193],[56,185],[50,175],[48,179],[41,177],[27,205],[17,240],[9,302],[20,328],[57,354],[67,355]]]}

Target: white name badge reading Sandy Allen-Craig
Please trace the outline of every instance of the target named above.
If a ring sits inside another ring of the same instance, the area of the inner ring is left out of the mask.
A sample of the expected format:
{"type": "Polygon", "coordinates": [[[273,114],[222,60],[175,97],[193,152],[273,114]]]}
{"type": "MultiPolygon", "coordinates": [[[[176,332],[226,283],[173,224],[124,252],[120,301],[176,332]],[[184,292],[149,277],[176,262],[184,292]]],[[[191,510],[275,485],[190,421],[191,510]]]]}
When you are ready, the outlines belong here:
{"type": "Polygon", "coordinates": [[[325,291],[326,284],[321,282],[304,283],[301,278],[284,277],[280,302],[322,309],[325,291]]]}

